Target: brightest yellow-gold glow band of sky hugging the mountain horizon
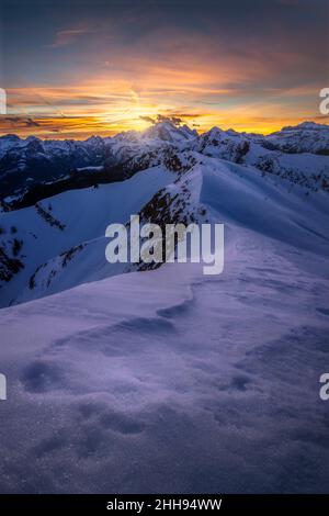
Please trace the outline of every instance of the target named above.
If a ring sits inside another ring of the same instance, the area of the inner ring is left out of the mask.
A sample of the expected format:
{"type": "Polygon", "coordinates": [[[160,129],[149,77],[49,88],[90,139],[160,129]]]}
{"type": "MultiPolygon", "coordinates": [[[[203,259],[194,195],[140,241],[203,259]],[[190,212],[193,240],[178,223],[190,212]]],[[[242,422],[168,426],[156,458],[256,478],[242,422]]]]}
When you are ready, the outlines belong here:
{"type": "MultiPolygon", "coordinates": [[[[147,88],[135,85],[134,89],[132,83],[120,79],[61,88],[15,88],[8,90],[8,116],[1,117],[0,131],[22,136],[81,139],[93,134],[106,136],[122,131],[141,131],[160,114],[175,116],[198,132],[217,125],[270,133],[283,125],[317,119],[317,91],[311,96],[316,99],[314,109],[308,100],[309,90],[296,90],[300,103],[294,102],[287,109],[286,102],[293,96],[291,89],[273,91],[251,102],[248,97],[239,99],[235,90],[228,90],[220,92],[222,101],[207,103],[200,100],[214,98],[206,90],[198,97],[189,87],[183,93],[177,88],[160,89],[150,83],[147,88]]],[[[328,122],[328,117],[322,117],[322,122],[328,122]]]]}

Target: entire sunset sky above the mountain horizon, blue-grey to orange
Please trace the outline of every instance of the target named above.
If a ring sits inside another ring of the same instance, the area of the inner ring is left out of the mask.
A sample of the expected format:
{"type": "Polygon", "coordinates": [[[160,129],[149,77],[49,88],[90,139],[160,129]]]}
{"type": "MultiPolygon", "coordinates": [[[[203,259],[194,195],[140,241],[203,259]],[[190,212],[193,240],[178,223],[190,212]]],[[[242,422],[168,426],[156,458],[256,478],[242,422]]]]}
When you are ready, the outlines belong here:
{"type": "Polygon", "coordinates": [[[198,132],[329,122],[327,0],[0,4],[2,134],[86,138],[159,114],[198,132]]]}

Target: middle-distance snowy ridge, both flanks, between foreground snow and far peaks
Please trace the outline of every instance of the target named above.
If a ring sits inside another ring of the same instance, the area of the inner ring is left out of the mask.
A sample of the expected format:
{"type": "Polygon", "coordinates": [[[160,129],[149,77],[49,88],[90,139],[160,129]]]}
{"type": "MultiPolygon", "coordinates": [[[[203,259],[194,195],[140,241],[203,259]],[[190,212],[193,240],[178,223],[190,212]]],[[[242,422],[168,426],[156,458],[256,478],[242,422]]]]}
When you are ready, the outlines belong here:
{"type": "Polygon", "coordinates": [[[144,222],[160,225],[205,220],[228,227],[242,225],[328,255],[327,191],[309,194],[304,182],[294,183],[290,177],[264,175],[251,166],[194,152],[179,153],[174,160],[162,156],[161,165],[127,181],[68,191],[36,206],[4,213],[0,243],[7,256],[19,259],[22,267],[10,281],[2,280],[0,305],[129,270],[105,261],[104,234],[110,223],[128,223],[135,213],[144,222]],[[20,250],[14,254],[18,242],[20,250]]]}

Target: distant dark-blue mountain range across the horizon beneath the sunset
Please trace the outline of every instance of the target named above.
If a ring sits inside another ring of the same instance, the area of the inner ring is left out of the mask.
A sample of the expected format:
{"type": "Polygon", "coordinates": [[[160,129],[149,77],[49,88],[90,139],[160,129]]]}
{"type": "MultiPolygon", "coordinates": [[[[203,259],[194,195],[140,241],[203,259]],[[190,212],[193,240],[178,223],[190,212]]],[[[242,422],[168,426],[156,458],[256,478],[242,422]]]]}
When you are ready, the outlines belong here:
{"type": "Polygon", "coordinates": [[[7,135],[0,137],[0,202],[4,210],[26,207],[70,189],[127,179],[147,168],[147,161],[170,159],[170,155],[174,159],[182,152],[253,165],[270,173],[277,173],[280,167],[294,181],[307,182],[313,169],[309,186],[318,188],[322,177],[318,180],[317,176],[328,169],[314,157],[329,155],[329,128],[305,122],[269,136],[217,127],[198,135],[186,125],[160,122],[140,133],[93,136],[84,142],[7,135]]]}

